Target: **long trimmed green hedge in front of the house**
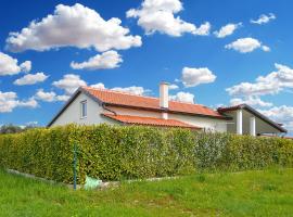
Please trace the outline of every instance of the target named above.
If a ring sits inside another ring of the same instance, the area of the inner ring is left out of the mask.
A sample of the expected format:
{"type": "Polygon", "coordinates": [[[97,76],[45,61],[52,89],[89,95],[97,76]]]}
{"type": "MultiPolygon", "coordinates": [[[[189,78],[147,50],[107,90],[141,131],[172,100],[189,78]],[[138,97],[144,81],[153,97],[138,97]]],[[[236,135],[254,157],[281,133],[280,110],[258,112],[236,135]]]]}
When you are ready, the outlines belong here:
{"type": "Polygon", "coordinates": [[[293,140],[109,125],[2,135],[0,166],[72,183],[75,143],[79,183],[86,175],[120,180],[293,166],[293,140]]]}

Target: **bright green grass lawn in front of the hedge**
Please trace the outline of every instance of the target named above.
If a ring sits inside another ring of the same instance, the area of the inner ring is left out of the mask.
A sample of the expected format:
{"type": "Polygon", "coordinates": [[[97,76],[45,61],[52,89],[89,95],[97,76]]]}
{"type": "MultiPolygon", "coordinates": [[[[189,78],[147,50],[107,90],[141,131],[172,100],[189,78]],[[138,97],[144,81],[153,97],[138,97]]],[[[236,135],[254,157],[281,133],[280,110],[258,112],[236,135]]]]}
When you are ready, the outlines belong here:
{"type": "Polygon", "coordinates": [[[76,191],[0,170],[0,216],[293,216],[293,169],[76,191]]]}

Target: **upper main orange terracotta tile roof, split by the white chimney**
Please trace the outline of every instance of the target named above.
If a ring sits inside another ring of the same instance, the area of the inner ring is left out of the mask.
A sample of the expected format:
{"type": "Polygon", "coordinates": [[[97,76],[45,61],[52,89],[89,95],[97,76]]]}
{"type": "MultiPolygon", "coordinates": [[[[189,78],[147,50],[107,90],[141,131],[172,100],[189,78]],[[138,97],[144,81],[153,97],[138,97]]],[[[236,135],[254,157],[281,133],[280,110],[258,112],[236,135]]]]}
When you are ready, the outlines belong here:
{"type": "MultiPolygon", "coordinates": [[[[95,88],[89,88],[89,87],[82,87],[82,89],[89,92],[91,95],[99,99],[100,101],[111,104],[111,105],[162,111],[162,108],[160,107],[158,98],[141,97],[141,95],[135,95],[135,94],[125,93],[125,92],[95,89],[95,88]]],[[[209,117],[222,118],[222,119],[226,118],[226,116],[221,115],[217,111],[214,111],[204,105],[176,102],[176,101],[169,101],[168,112],[188,113],[192,115],[202,115],[202,116],[209,116],[209,117]]]]}

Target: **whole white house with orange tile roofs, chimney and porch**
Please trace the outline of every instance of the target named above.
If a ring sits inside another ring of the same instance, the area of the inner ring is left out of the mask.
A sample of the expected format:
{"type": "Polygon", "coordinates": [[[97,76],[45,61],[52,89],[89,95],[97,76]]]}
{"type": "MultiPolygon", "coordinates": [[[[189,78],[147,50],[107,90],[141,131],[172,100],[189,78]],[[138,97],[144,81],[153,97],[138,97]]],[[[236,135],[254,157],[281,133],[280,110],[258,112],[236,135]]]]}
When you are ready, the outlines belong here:
{"type": "Polygon", "coordinates": [[[48,124],[146,125],[239,135],[280,135],[286,130],[253,107],[242,104],[217,111],[201,104],[168,100],[168,84],[160,85],[160,98],[80,87],[48,124]]]}

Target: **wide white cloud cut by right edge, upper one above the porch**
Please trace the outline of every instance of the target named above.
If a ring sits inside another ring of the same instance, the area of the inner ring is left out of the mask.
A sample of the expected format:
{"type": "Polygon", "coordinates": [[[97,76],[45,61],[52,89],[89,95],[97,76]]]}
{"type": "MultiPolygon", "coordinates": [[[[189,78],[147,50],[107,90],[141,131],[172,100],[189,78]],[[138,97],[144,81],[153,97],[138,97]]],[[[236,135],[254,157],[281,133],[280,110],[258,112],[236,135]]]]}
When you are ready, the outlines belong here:
{"type": "Polygon", "coordinates": [[[230,95],[265,95],[293,88],[293,69],[281,64],[275,64],[275,67],[276,72],[257,77],[255,82],[241,82],[226,90],[230,95]]]}

